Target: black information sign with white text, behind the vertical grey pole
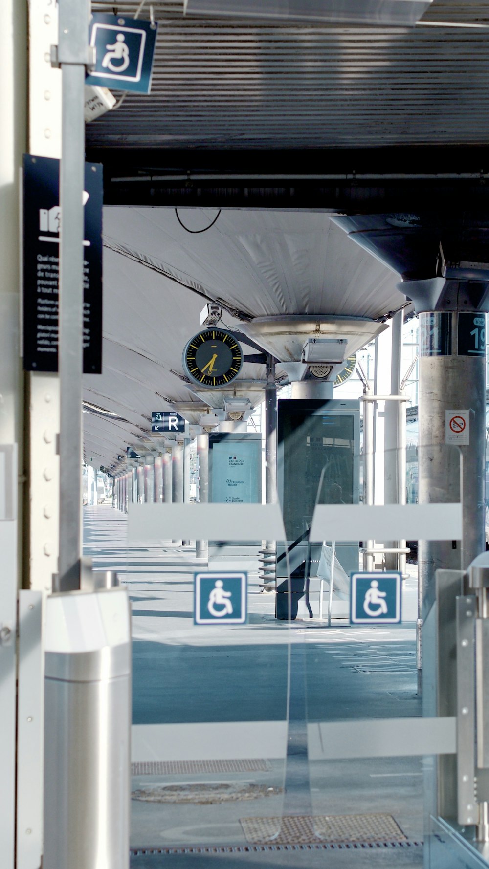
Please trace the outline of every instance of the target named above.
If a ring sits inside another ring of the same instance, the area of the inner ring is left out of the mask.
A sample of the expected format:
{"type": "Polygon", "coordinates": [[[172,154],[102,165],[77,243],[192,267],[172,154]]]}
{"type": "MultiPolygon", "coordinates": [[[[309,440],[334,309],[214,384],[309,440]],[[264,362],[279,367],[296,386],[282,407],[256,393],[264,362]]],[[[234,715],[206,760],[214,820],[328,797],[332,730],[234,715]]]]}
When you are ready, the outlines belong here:
{"type": "MultiPolygon", "coordinates": [[[[84,374],[102,373],[102,166],[85,163],[84,374]]],[[[23,368],[57,371],[59,161],[23,157],[23,368]]]]}

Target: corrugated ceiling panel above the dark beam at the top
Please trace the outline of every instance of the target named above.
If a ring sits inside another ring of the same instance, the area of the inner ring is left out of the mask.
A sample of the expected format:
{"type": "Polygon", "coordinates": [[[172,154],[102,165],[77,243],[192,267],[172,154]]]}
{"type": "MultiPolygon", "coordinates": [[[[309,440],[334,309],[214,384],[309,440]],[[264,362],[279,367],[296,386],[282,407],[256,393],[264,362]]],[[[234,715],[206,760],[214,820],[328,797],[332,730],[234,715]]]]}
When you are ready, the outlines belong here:
{"type": "MultiPolygon", "coordinates": [[[[489,136],[485,28],[234,23],[184,17],[183,3],[153,8],[151,95],[128,95],[90,123],[90,145],[372,147],[489,136]]],[[[489,3],[435,0],[424,20],[489,25],[489,3]]]]}

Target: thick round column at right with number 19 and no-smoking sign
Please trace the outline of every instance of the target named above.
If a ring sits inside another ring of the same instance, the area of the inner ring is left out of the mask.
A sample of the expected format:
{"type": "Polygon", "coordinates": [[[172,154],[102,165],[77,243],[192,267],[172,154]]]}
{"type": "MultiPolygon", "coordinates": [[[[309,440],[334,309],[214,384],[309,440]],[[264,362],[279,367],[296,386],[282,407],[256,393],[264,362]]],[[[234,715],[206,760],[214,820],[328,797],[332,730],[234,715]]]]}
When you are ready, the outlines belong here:
{"type": "Polygon", "coordinates": [[[419,315],[419,503],[461,501],[463,522],[461,541],[419,541],[419,690],[421,629],[435,600],[435,571],[466,570],[486,546],[487,281],[450,270],[449,277],[402,285],[419,315]],[[468,415],[468,437],[452,443],[446,411],[457,410],[468,415]]]}

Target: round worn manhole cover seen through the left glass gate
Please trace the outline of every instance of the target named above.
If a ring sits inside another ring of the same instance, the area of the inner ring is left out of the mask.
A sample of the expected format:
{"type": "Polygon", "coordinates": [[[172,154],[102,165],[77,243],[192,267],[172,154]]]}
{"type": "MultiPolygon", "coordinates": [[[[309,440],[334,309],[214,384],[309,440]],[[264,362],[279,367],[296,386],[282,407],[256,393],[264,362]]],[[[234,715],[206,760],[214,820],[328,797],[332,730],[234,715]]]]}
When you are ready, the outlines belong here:
{"type": "Polygon", "coordinates": [[[274,797],[278,793],[282,793],[282,788],[215,782],[141,787],[131,793],[131,798],[145,803],[194,803],[211,806],[214,803],[236,802],[241,799],[274,797]]]}

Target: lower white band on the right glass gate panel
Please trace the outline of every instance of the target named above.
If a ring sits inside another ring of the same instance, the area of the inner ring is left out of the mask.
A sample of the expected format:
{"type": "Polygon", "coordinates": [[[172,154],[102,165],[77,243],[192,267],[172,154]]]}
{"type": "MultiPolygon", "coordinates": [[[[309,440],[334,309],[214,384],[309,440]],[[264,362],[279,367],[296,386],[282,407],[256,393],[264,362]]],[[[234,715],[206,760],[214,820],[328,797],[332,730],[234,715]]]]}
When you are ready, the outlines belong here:
{"type": "Polygon", "coordinates": [[[307,725],[309,760],[454,754],[457,719],[381,718],[307,725]]]}

